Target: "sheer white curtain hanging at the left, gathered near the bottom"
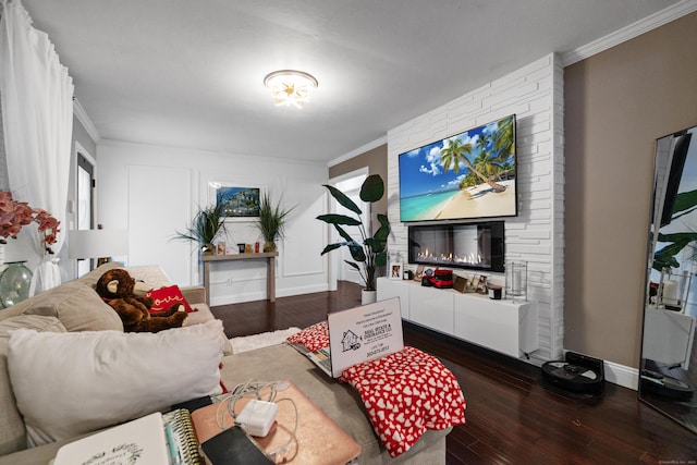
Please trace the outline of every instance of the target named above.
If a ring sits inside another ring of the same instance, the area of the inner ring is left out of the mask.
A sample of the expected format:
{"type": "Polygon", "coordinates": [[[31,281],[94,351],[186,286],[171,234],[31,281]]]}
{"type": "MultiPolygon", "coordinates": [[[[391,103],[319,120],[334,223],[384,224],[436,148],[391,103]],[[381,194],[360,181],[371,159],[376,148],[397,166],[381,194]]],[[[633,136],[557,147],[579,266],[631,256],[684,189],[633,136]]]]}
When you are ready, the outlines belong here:
{"type": "Polygon", "coordinates": [[[16,200],[42,208],[61,222],[48,255],[30,231],[40,258],[32,293],[61,283],[58,254],[66,233],[65,206],[73,132],[73,81],[48,36],[32,27],[20,0],[0,0],[0,101],[10,191],[16,200]]]}

